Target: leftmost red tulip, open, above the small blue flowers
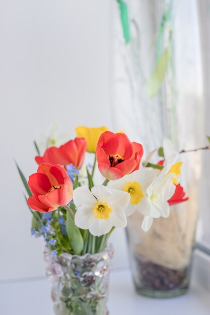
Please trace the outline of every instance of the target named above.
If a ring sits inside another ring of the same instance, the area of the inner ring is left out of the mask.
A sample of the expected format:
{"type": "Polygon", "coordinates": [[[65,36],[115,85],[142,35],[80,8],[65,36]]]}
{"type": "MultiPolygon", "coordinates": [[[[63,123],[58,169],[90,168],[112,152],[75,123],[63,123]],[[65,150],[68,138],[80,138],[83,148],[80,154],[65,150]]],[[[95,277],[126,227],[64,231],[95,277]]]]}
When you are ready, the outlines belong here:
{"type": "Polygon", "coordinates": [[[29,177],[28,185],[33,194],[28,198],[30,208],[49,212],[67,205],[73,197],[72,181],[60,165],[43,163],[37,173],[29,177]]]}

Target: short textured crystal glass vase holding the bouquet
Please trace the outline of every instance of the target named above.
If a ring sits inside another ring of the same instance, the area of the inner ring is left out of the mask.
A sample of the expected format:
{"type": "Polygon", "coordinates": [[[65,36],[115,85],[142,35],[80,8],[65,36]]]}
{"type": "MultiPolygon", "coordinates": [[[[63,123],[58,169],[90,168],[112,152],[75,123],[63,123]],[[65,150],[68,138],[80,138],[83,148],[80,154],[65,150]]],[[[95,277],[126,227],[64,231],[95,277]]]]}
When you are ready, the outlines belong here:
{"type": "Polygon", "coordinates": [[[84,256],[45,253],[46,274],[52,283],[51,298],[56,315],[108,315],[110,260],[113,247],[84,256]]]}

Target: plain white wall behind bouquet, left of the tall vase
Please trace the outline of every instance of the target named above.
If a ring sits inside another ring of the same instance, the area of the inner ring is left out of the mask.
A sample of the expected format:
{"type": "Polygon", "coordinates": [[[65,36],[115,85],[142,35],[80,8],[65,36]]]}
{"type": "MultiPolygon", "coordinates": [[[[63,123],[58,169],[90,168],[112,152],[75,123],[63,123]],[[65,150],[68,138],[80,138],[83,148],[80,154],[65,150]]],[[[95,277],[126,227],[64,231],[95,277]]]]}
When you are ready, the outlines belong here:
{"type": "MultiPolygon", "coordinates": [[[[77,125],[114,128],[109,16],[110,1],[0,0],[0,280],[45,273],[13,159],[34,173],[36,131],[54,120],[72,137],[77,125]]],[[[124,231],[112,241],[114,266],[126,265],[124,231]]]]}

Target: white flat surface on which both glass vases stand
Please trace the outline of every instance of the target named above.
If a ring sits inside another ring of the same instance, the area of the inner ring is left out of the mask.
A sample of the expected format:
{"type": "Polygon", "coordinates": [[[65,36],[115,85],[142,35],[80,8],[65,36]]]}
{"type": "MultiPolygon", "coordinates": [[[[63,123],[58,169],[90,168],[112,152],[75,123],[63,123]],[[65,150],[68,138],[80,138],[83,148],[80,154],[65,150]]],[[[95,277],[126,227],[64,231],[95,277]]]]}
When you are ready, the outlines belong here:
{"type": "MultiPolygon", "coordinates": [[[[186,295],[152,299],[134,292],[128,269],[117,269],[110,276],[108,308],[110,315],[210,315],[210,292],[192,283],[186,295]]],[[[50,283],[44,278],[0,283],[0,315],[53,315],[50,283]]]]}

